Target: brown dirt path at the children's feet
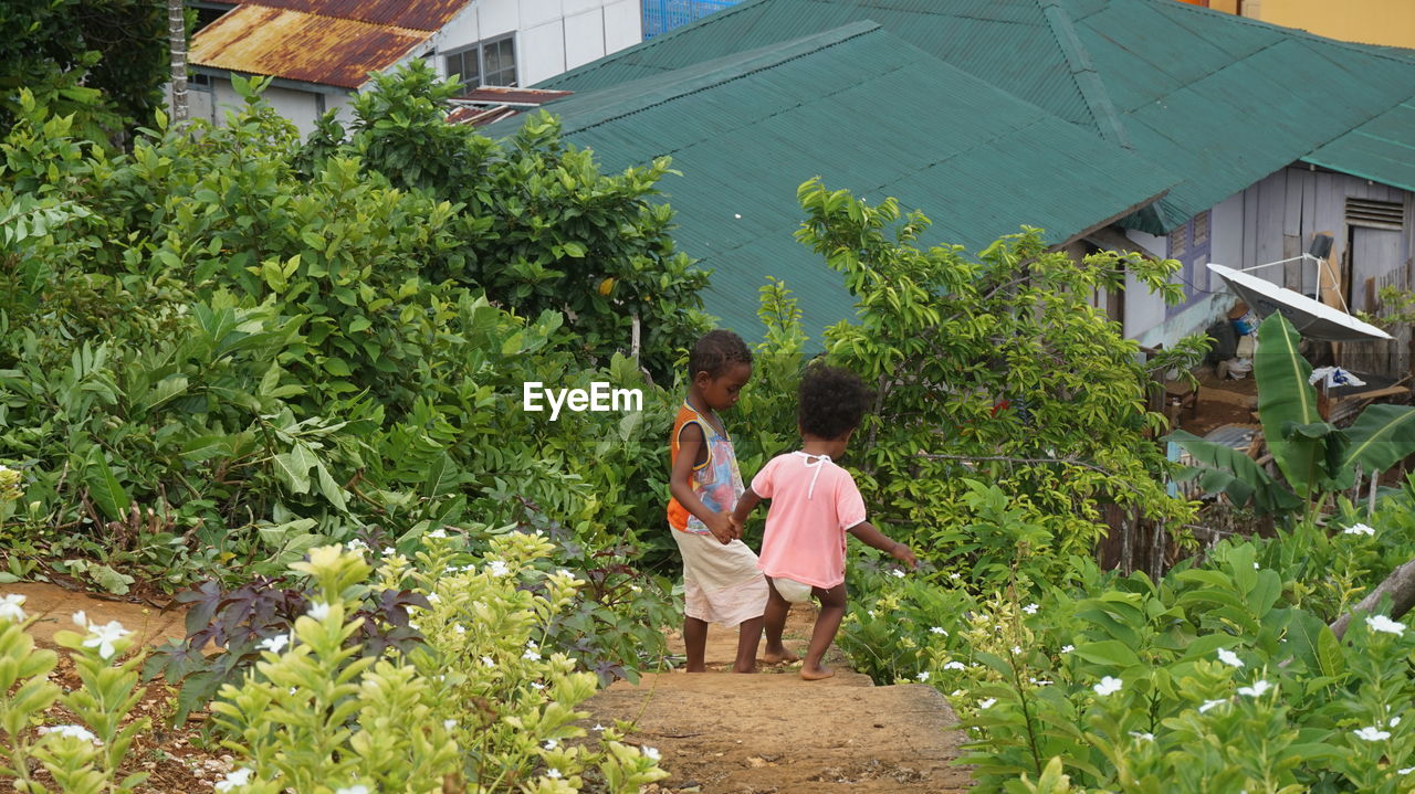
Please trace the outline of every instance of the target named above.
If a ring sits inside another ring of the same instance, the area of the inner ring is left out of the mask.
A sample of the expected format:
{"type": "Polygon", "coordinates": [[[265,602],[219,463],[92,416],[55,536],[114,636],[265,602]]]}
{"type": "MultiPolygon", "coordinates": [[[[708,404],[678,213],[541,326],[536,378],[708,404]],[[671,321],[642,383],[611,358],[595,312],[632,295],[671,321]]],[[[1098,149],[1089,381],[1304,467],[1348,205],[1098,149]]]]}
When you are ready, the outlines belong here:
{"type": "MultiPolygon", "coordinates": [[[[788,647],[804,648],[814,615],[792,610],[788,647]],[[794,640],[794,641],[792,641],[794,640]]],[[[874,687],[832,650],[836,675],[802,681],[795,667],[723,672],[736,630],[708,633],[715,672],[620,681],[586,704],[590,723],[630,719],[631,742],[658,747],[674,794],[924,794],[966,791],[949,766],[962,733],[948,702],[923,684],[874,687]]],[[[682,641],[672,641],[682,653],[682,641]]],[[[829,657],[828,657],[829,661],[829,657]]],[[[649,787],[649,791],[654,791],[649,787]]]]}

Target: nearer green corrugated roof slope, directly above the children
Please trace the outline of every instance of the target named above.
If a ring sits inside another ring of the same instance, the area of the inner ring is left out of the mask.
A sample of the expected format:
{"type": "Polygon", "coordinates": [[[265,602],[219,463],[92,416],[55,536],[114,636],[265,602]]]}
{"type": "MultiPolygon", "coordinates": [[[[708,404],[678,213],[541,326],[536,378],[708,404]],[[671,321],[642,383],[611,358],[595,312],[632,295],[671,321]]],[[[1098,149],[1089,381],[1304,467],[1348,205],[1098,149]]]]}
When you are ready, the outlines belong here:
{"type": "Polygon", "coordinates": [[[816,340],[853,316],[841,275],[792,237],[804,218],[795,191],[811,177],[896,196],[934,220],[925,243],[974,250],[1022,225],[1061,242],[1174,182],[874,23],[576,93],[548,110],[604,168],[672,155],[683,178],[661,186],[679,247],[713,270],[708,311],[757,339],[767,275],[797,292],[816,340]]]}

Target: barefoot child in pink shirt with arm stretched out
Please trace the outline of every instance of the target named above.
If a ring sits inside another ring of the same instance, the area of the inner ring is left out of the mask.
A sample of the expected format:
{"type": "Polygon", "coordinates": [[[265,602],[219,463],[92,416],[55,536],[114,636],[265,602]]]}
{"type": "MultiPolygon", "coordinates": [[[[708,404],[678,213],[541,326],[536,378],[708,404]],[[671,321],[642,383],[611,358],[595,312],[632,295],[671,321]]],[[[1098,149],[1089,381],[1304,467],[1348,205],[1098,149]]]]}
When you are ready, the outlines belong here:
{"type": "Polygon", "coordinates": [[[758,562],[771,585],[763,658],[770,663],[797,658],[781,644],[781,630],[791,610],[781,591],[808,585],[821,600],[821,615],[811,633],[801,678],[816,681],[835,674],[821,667],[821,657],[845,617],[846,533],[887,551],[910,568],[918,561],[907,545],[889,540],[865,520],[865,500],[855,487],[855,478],[835,463],[869,410],[869,389],[855,373],[812,366],[801,379],[799,403],[801,449],[773,458],[757,472],[751,487],[737,502],[732,523],[740,531],[751,510],[763,499],[771,500],[758,562]]]}

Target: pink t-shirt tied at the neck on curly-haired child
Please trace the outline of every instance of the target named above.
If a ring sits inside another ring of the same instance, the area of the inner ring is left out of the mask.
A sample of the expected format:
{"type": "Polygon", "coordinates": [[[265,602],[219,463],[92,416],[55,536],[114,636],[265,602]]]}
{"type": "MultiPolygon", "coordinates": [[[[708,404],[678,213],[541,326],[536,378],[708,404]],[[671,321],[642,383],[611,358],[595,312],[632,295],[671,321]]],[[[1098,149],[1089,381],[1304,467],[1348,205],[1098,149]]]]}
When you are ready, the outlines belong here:
{"type": "Polygon", "coordinates": [[[771,500],[757,567],[816,588],[845,581],[845,531],[865,520],[855,478],[824,455],[777,455],[751,490],[771,500]]]}

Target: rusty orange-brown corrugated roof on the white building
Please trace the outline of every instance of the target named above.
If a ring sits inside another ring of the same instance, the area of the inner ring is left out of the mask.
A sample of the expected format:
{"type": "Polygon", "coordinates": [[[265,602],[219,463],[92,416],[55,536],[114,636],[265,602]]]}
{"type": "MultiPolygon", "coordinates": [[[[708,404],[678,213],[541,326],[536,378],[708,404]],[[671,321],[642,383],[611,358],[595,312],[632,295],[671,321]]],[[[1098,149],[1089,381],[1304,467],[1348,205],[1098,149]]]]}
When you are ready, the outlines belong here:
{"type": "Polygon", "coordinates": [[[430,35],[246,3],[198,32],[190,58],[211,69],[355,89],[369,72],[392,66],[430,35]]]}

